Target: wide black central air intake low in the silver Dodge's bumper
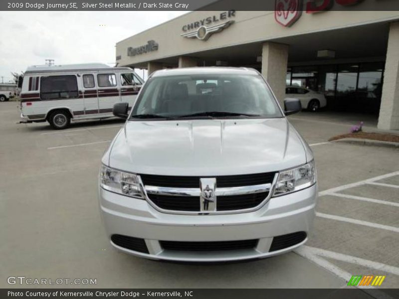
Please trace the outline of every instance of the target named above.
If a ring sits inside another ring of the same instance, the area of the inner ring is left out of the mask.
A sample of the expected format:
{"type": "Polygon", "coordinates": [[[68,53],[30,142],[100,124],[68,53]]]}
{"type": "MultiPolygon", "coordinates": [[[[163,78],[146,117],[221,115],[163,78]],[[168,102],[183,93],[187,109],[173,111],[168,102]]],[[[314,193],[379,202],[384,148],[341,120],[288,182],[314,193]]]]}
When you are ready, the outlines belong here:
{"type": "Polygon", "coordinates": [[[258,240],[238,241],[211,241],[211,242],[181,242],[181,241],[160,241],[161,247],[166,250],[178,251],[225,251],[252,249],[258,244],[258,240]]]}

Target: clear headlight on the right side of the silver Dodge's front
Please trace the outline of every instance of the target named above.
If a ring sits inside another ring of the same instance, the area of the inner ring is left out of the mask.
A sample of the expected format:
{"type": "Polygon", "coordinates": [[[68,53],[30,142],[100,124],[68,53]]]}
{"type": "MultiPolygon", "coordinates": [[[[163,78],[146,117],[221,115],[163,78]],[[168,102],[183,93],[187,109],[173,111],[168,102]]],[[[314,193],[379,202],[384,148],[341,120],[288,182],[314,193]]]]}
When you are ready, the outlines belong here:
{"type": "Polygon", "coordinates": [[[305,189],[316,183],[315,163],[307,164],[281,171],[278,174],[273,196],[279,196],[305,189]]]}

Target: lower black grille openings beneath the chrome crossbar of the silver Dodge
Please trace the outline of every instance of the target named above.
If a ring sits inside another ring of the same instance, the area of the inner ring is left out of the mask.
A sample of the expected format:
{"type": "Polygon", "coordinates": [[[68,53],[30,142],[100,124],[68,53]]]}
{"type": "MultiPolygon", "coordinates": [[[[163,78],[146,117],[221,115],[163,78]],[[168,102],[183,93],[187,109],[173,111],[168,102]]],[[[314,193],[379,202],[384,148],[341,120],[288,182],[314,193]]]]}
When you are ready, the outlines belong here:
{"type": "MultiPolygon", "coordinates": [[[[268,192],[243,195],[217,196],[217,211],[242,210],[256,207],[266,197],[268,192]]],[[[200,196],[172,196],[148,194],[148,197],[158,207],[174,211],[200,211],[200,196]]]]}

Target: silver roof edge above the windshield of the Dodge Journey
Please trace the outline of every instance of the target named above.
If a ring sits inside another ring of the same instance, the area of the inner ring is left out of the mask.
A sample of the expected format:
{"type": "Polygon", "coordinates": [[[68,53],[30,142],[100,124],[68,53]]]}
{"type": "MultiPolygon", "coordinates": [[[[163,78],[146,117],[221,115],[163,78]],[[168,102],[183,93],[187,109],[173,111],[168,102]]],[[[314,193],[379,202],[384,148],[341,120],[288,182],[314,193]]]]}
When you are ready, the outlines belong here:
{"type": "Polygon", "coordinates": [[[179,75],[200,75],[200,74],[246,74],[259,75],[259,72],[252,68],[246,67],[185,67],[175,69],[158,70],[151,74],[150,77],[165,77],[179,75]]]}

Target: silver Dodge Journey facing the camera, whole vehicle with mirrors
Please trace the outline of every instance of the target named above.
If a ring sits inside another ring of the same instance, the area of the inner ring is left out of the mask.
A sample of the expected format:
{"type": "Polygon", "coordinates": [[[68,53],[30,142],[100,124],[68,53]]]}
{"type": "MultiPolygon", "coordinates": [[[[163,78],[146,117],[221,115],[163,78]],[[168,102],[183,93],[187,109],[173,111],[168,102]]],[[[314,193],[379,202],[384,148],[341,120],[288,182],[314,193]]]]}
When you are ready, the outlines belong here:
{"type": "Polygon", "coordinates": [[[264,258],[307,241],[313,153],[262,76],[247,68],[156,71],[102,157],[99,201],[111,244],[136,256],[264,258]]]}

